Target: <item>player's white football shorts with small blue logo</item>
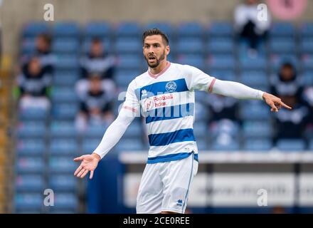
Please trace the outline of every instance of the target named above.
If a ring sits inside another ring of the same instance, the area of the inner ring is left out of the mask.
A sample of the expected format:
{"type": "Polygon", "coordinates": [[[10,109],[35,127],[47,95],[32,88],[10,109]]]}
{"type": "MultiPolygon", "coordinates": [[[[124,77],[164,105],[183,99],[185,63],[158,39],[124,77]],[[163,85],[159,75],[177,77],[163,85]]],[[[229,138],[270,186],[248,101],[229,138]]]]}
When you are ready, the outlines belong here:
{"type": "Polygon", "coordinates": [[[147,164],[137,195],[137,214],[184,214],[191,182],[197,172],[194,154],[182,160],[147,164]]]}

